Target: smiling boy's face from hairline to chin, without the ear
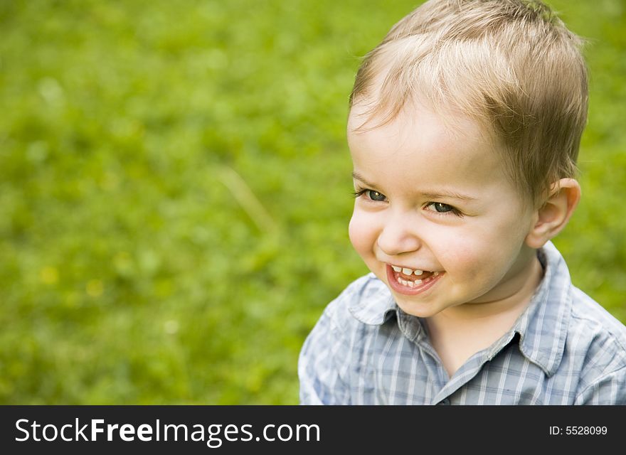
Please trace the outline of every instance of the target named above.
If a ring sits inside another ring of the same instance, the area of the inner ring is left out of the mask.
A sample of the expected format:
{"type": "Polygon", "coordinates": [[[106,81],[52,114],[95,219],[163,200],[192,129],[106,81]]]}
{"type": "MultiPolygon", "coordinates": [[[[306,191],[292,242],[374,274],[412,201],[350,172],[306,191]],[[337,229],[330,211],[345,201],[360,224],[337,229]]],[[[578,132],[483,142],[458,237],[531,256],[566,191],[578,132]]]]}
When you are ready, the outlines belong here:
{"type": "Polygon", "coordinates": [[[536,213],[506,178],[493,141],[470,119],[444,121],[417,103],[355,132],[363,114],[355,105],[348,122],[360,194],[350,240],[400,308],[430,317],[514,300],[536,261],[525,244],[536,213]]]}

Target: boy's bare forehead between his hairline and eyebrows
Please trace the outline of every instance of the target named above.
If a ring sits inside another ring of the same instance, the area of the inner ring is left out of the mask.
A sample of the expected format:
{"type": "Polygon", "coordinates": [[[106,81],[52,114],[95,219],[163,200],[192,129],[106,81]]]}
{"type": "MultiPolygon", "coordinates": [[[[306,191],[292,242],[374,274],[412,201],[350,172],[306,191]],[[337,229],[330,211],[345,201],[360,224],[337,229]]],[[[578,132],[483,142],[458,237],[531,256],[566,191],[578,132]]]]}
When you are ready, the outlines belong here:
{"type": "Polygon", "coordinates": [[[357,103],[349,114],[347,137],[354,170],[375,174],[370,178],[380,184],[445,187],[477,196],[493,188],[511,189],[494,135],[452,110],[434,112],[411,102],[385,123],[369,119],[368,105],[357,103]]]}

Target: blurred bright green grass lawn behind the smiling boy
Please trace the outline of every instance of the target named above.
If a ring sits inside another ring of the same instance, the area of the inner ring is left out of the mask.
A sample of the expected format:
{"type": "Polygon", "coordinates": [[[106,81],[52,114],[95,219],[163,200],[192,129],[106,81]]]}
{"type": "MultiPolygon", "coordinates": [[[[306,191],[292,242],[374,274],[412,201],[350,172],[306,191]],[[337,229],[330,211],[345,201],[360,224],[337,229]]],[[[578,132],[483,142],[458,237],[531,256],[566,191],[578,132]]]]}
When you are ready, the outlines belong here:
{"type": "MultiPolygon", "coordinates": [[[[0,1],[0,403],[297,403],[366,273],[347,236],[359,57],[416,1],[0,1]]],[[[555,240],[626,321],[626,16],[589,39],[583,200],[555,240]]]]}

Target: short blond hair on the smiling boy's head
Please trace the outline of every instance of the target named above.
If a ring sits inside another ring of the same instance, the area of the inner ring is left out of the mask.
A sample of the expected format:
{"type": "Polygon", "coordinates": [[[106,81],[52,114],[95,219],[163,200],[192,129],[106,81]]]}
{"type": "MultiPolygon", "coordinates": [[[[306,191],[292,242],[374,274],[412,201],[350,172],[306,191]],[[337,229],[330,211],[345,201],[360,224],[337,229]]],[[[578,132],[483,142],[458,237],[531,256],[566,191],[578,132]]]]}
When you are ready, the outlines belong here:
{"type": "Polygon", "coordinates": [[[588,104],[582,45],[540,1],[430,0],[365,56],[350,106],[367,101],[368,120],[384,124],[419,97],[479,119],[537,205],[577,171],[588,104]]]}

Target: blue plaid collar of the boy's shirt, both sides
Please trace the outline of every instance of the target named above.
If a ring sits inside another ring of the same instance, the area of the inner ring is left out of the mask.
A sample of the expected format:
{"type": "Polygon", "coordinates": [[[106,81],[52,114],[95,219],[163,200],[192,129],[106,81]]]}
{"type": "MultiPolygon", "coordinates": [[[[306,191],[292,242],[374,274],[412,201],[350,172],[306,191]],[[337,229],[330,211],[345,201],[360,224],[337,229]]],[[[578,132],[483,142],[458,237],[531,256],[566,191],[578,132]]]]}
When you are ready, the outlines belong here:
{"type": "MultiPolygon", "coordinates": [[[[543,265],[541,284],[511,331],[494,343],[488,358],[497,355],[519,333],[521,353],[551,376],[563,358],[571,317],[571,279],[565,259],[552,242],[547,242],[537,255],[543,265]]],[[[359,296],[351,299],[351,314],[362,323],[375,326],[395,315],[400,329],[412,341],[424,335],[419,318],[405,314],[386,285],[374,274],[369,274],[368,278],[359,296]]]]}

